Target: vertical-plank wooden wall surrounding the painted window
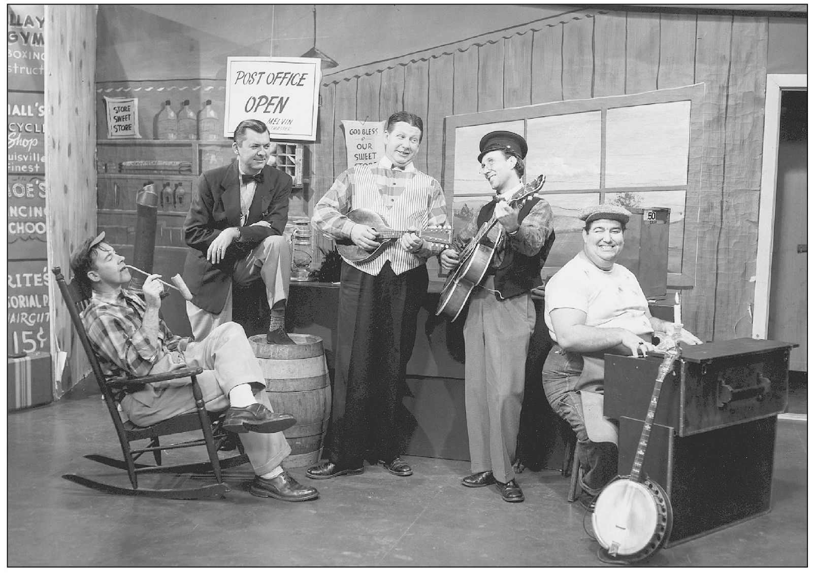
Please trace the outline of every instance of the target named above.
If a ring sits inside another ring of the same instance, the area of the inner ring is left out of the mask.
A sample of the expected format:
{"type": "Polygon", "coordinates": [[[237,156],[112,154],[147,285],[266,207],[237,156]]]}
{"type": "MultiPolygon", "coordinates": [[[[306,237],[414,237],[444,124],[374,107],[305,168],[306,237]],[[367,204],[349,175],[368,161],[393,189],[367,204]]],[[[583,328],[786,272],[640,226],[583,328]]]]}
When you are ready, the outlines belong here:
{"type": "MultiPolygon", "coordinates": [[[[504,33],[323,77],[313,146],[314,198],[345,166],[343,115],[406,108],[425,122],[417,165],[442,178],[445,117],[706,83],[694,288],[684,323],[703,339],[751,335],[769,20],[729,13],[605,11],[559,15],[504,33]],[[379,99],[376,87],[379,85],[379,99]],[[334,121],[332,121],[332,118],[334,121]],[[325,121],[325,122],[324,122],[325,121]],[[334,130],[329,130],[334,127],[334,130]],[[319,169],[318,169],[319,168],[319,169]],[[715,275],[711,275],[715,272],[715,275]]],[[[326,244],[330,246],[330,244],[326,244]]]]}

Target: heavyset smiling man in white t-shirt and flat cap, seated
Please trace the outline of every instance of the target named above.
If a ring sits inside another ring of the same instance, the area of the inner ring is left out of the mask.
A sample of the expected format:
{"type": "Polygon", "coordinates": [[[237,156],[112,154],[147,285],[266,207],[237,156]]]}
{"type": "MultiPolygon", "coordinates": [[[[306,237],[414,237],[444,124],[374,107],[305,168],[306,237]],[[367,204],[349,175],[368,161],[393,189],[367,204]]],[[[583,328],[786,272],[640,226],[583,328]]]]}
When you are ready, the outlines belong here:
{"type": "MultiPolygon", "coordinates": [[[[602,391],[603,355],[645,355],[652,335],[672,324],[650,315],[641,285],[616,263],[632,214],[614,205],[581,210],[583,250],[561,267],[544,289],[544,320],[555,345],[544,362],[542,381],[552,409],[578,437],[579,484],[595,496],[618,472],[618,448],[587,435],[579,391],[602,391]]],[[[682,330],[682,342],[698,344],[682,330]]]]}

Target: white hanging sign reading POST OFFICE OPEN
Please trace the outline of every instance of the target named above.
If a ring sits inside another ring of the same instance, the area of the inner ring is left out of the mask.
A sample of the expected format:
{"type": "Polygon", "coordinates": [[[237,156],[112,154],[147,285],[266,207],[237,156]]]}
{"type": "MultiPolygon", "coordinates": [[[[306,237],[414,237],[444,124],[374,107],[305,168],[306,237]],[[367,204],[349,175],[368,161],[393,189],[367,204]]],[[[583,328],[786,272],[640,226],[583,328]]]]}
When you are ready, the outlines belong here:
{"type": "Polygon", "coordinates": [[[320,79],[320,59],[229,56],[224,136],[254,118],[273,140],[316,140],[320,79]]]}

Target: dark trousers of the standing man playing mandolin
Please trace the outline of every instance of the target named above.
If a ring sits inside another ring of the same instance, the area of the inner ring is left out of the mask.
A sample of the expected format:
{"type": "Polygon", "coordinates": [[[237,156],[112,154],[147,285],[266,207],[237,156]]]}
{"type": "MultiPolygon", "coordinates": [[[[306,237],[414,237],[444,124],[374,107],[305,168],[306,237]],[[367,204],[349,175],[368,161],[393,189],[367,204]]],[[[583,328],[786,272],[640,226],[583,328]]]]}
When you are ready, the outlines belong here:
{"type": "Polygon", "coordinates": [[[397,276],[387,262],[370,276],[344,263],[340,282],[330,460],[355,468],[366,457],[390,462],[401,453],[399,392],[406,388],[428,268],[397,276]]]}

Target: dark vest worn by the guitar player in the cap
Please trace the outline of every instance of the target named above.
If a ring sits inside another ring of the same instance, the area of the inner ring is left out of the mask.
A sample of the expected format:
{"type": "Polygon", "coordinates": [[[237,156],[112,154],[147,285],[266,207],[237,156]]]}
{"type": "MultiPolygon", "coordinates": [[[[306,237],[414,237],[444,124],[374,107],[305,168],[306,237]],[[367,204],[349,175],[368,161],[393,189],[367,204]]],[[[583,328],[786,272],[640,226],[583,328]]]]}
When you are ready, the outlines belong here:
{"type": "MultiPolygon", "coordinates": [[[[521,210],[518,212],[518,223],[521,223],[530,210],[533,209],[536,203],[541,201],[539,197],[528,197],[527,201],[521,210]]],[[[486,206],[479,211],[477,225],[481,225],[493,217],[493,208],[496,206],[497,200],[490,201],[486,206]]],[[[550,252],[552,242],[555,241],[555,232],[550,233],[547,241],[544,242],[543,247],[538,254],[525,255],[513,250],[510,241],[505,245],[504,259],[498,267],[490,267],[487,270],[488,274],[494,275],[494,288],[502,294],[502,297],[512,298],[520,294],[538,287],[542,284],[541,281],[541,267],[547,260],[547,254],[550,252]]],[[[497,296],[498,298],[498,296],[497,296]]]]}

